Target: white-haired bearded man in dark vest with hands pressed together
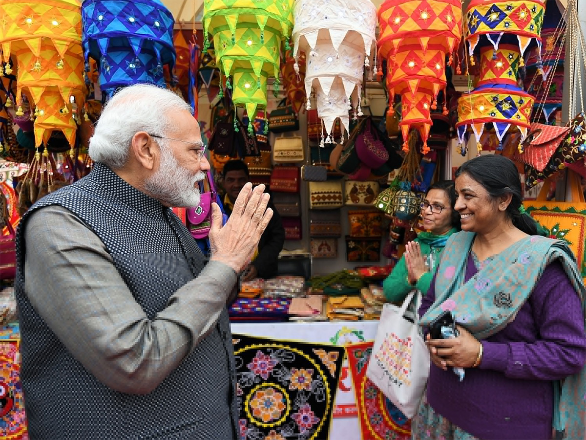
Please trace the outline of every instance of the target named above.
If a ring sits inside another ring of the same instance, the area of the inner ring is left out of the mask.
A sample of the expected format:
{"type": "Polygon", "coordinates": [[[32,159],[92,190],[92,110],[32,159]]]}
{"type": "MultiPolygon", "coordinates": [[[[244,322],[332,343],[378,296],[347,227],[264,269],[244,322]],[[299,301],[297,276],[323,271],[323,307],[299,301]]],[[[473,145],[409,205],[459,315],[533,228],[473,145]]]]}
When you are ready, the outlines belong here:
{"type": "Polygon", "coordinates": [[[209,170],[172,92],[116,93],[87,177],[40,199],[17,236],[22,384],[31,439],[238,438],[226,303],[272,216],[244,186],[209,260],[170,207],[209,170]]]}

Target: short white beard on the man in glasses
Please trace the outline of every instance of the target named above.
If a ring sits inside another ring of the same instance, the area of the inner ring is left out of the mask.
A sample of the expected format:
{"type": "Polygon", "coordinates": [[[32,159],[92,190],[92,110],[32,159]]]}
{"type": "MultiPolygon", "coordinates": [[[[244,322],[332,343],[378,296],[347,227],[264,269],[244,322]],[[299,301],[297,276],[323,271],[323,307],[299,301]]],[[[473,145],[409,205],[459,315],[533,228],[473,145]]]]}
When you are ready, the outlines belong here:
{"type": "Polygon", "coordinates": [[[169,148],[161,148],[161,165],[145,182],[145,190],[166,206],[192,208],[199,205],[201,198],[196,182],[205,177],[203,171],[192,174],[178,163],[169,148]]]}

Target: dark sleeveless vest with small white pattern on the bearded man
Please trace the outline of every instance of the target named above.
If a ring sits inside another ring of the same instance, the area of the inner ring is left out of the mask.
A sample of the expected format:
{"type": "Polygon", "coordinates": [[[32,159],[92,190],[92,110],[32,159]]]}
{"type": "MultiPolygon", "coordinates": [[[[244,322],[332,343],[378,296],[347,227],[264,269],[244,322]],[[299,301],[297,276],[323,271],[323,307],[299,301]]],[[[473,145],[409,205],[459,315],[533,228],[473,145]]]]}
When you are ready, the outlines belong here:
{"type": "Polygon", "coordinates": [[[173,292],[196,277],[206,263],[171,209],[102,164],[29,209],[16,238],[16,299],[30,438],[236,438],[236,378],[226,309],[209,335],[147,395],[124,394],[105,386],[46,326],[25,295],[22,226],[30,212],[47,205],[69,209],[96,233],[149,319],[164,309],[173,292]]]}

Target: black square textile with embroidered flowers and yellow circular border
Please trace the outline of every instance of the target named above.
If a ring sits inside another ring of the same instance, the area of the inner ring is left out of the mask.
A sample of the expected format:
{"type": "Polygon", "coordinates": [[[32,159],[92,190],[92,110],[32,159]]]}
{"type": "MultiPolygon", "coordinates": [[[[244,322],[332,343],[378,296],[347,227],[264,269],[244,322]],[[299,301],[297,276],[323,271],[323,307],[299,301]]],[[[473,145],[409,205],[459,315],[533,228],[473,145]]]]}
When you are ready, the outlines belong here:
{"type": "Polygon", "coordinates": [[[240,438],[327,439],[344,348],[233,334],[240,438]]]}

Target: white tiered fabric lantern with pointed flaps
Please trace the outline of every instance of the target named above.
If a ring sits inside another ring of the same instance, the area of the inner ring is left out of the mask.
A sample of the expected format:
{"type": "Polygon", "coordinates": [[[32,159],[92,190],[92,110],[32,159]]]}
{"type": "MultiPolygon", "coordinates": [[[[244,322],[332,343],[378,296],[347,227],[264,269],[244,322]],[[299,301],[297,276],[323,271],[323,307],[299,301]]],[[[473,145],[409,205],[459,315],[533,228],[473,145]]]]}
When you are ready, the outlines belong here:
{"type": "MultiPolygon", "coordinates": [[[[340,120],[342,137],[350,124],[349,110],[362,116],[360,94],[364,66],[370,66],[369,55],[376,41],[376,8],[369,0],[297,0],[293,29],[297,67],[305,52],[306,109],[311,109],[309,96],[316,90],[318,116],[331,143],[336,119],[340,120]]],[[[323,142],[323,140],[322,140],[323,142]]]]}

